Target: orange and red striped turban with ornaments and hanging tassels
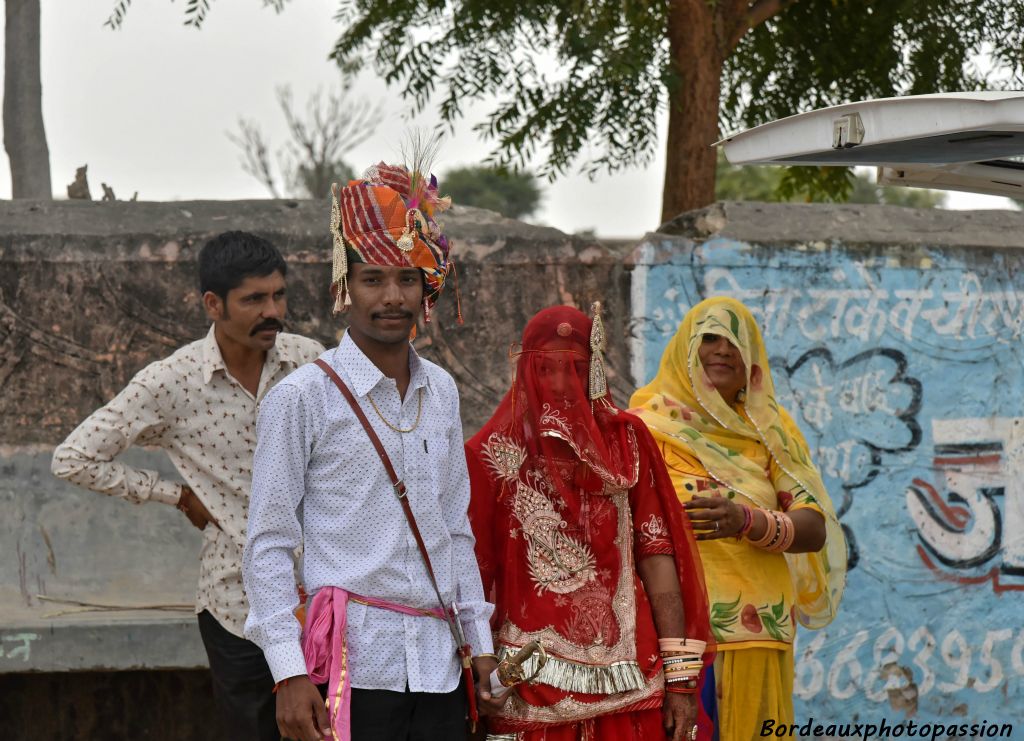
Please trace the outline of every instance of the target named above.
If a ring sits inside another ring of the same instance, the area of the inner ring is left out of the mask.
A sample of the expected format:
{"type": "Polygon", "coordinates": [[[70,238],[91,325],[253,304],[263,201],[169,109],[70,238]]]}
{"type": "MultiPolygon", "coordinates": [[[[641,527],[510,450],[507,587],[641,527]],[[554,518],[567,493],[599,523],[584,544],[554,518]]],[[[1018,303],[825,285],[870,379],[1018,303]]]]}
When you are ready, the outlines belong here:
{"type": "MultiPolygon", "coordinates": [[[[332,287],[338,287],[334,311],[351,303],[348,263],[417,267],[426,278],[425,319],[455,264],[449,242],[434,215],[452,206],[440,198],[437,178],[429,179],[400,165],[383,162],[371,167],[359,180],[331,187],[331,233],[334,236],[332,287]]],[[[460,317],[461,319],[461,317],[460,317]]]]}

